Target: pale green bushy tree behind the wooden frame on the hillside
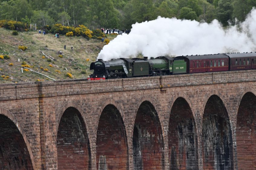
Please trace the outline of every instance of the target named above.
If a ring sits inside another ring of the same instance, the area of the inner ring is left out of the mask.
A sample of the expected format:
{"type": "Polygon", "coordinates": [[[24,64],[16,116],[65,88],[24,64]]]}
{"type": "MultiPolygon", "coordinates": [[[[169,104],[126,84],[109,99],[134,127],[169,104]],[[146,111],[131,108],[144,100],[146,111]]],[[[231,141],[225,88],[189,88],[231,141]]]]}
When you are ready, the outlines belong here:
{"type": "Polygon", "coordinates": [[[34,11],[32,17],[32,22],[36,23],[39,27],[45,27],[46,25],[51,25],[54,20],[48,15],[47,11],[34,11]]]}

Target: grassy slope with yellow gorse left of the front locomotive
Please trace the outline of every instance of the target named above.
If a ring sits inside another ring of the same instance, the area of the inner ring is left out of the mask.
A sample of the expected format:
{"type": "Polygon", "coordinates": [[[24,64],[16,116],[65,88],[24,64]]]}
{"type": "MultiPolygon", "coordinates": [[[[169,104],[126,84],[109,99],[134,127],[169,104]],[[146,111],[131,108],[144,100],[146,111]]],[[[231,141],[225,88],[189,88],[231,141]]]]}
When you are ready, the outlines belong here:
{"type": "MultiPolygon", "coordinates": [[[[39,34],[38,32],[23,32],[18,36],[11,35],[12,31],[0,28],[0,55],[7,51],[11,59],[0,60],[1,75],[10,76],[8,80],[0,77],[0,83],[25,82],[48,80],[47,77],[32,71],[23,71],[21,73],[21,62],[34,66],[34,71],[38,71],[56,80],[70,79],[66,76],[69,72],[73,75],[72,78],[86,78],[91,71],[89,70],[90,63],[95,61],[98,53],[105,45],[98,39],[87,40],[83,37],[66,37],[60,36],[55,38],[53,34],[39,34]],[[21,51],[19,45],[27,46],[28,49],[21,51]],[[66,50],[64,50],[66,45],[66,50]],[[71,51],[73,45],[74,50],[71,51]],[[56,61],[48,62],[47,58],[42,58],[44,52],[46,55],[51,55],[56,61]],[[63,58],[59,58],[57,52],[63,52],[63,58]],[[87,51],[87,52],[86,52],[87,51]],[[20,62],[18,62],[18,58],[20,62]],[[89,58],[90,61],[86,61],[89,58]],[[13,63],[13,66],[9,66],[13,63]],[[50,67],[49,64],[53,65],[50,67]],[[49,71],[43,71],[40,67],[48,68],[49,71]],[[66,69],[67,68],[67,71],[66,69]],[[57,73],[60,70],[61,73],[57,73]],[[81,71],[86,71],[82,74],[81,71]]],[[[108,36],[108,39],[113,39],[116,36],[108,36]]],[[[51,80],[51,79],[49,79],[51,80]]]]}

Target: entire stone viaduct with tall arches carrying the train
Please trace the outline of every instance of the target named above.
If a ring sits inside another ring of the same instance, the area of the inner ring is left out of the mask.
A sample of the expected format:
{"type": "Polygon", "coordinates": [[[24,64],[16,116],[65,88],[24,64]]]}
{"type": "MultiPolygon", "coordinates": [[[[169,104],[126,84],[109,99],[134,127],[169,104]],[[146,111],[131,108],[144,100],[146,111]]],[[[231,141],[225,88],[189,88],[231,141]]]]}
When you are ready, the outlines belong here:
{"type": "Polygon", "coordinates": [[[0,169],[256,169],[256,70],[0,85],[0,169]]]}

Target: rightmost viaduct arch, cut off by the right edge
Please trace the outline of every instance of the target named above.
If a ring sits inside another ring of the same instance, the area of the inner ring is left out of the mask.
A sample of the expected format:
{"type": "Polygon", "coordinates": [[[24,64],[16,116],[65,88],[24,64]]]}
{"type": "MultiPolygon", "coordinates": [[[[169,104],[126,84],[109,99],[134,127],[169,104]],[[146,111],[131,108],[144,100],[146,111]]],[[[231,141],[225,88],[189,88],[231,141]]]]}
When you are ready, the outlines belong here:
{"type": "Polygon", "coordinates": [[[254,169],[256,164],[256,95],[246,87],[238,101],[236,146],[238,169],[254,169]]]}

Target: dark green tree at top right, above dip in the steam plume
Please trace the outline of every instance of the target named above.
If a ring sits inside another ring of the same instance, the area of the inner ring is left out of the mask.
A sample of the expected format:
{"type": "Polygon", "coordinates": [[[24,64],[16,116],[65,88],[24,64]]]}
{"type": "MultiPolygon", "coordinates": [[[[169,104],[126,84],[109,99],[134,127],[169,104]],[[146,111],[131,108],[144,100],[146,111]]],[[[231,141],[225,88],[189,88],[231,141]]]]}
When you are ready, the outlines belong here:
{"type": "Polygon", "coordinates": [[[220,0],[217,7],[217,17],[223,26],[228,25],[228,20],[232,19],[233,7],[230,0],[220,0]]]}

